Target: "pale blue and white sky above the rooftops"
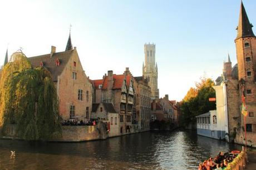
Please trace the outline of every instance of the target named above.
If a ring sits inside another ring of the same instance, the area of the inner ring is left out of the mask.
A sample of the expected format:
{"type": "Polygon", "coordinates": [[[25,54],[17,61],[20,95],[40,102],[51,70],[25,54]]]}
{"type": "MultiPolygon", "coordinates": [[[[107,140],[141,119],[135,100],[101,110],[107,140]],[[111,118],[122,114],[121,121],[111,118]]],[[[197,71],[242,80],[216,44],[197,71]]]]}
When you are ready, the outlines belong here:
{"type": "MultiPolygon", "coordinates": [[[[256,1],[243,1],[256,26],[256,1]]],[[[4,1],[0,6],[0,65],[22,48],[27,57],[65,51],[71,27],[90,79],[129,67],[142,76],[144,44],[156,44],[160,97],[180,101],[200,77],[221,74],[228,53],[237,63],[240,0],[4,1]]],[[[255,32],[256,33],[256,32],[255,32]]]]}

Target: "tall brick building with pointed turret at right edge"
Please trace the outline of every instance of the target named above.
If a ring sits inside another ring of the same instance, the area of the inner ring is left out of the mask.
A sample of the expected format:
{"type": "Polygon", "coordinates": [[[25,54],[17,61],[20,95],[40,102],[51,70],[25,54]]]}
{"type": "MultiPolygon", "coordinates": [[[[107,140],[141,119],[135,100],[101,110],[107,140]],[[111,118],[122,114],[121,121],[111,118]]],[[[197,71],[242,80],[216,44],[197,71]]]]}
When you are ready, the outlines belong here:
{"type": "Polygon", "coordinates": [[[235,38],[238,63],[232,67],[229,58],[224,63],[223,77],[219,77],[217,83],[223,82],[227,87],[229,141],[245,143],[246,128],[248,145],[256,146],[256,37],[252,27],[242,2],[235,38]],[[243,93],[248,109],[245,126],[244,116],[241,114],[243,93]]]}

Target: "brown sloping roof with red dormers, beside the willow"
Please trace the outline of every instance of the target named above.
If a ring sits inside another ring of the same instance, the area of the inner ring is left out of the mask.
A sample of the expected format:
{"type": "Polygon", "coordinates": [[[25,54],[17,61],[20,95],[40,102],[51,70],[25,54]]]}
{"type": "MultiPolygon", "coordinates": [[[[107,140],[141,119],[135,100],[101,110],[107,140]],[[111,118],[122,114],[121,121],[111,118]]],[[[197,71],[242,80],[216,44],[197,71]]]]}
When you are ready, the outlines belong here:
{"type": "Polygon", "coordinates": [[[63,72],[63,69],[66,67],[67,62],[70,60],[74,49],[64,52],[45,54],[42,56],[29,57],[28,60],[31,62],[33,68],[41,67],[41,62],[43,67],[46,67],[48,71],[52,74],[52,80],[58,81],[58,76],[63,72]],[[56,61],[60,61],[60,65],[56,66],[56,61]]]}

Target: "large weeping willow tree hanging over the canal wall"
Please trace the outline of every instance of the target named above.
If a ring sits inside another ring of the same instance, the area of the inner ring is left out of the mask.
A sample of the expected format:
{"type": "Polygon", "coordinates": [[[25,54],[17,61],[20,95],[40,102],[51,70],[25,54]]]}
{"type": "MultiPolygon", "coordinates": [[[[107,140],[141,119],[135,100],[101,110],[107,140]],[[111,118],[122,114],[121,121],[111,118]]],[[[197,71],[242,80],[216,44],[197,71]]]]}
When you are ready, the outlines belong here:
{"type": "Polygon", "coordinates": [[[0,82],[0,129],[16,124],[16,136],[45,140],[61,136],[55,85],[46,68],[32,68],[22,52],[12,54],[0,82]]]}

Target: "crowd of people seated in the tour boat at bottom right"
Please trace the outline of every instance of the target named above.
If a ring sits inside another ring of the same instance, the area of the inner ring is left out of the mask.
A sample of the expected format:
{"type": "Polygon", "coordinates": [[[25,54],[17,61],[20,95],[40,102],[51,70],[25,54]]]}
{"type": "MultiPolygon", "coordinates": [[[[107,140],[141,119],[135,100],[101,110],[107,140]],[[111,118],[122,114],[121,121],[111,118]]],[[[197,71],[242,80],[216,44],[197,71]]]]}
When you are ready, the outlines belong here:
{"type": "Polygon", "coordinates": [[[215,158],[209,158],[203,163],[199,164],[198,170],[222,170],[228,167],[228,164],[233,161],[238,153],[224,153],[219,152],[215,158]]]}

